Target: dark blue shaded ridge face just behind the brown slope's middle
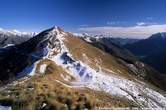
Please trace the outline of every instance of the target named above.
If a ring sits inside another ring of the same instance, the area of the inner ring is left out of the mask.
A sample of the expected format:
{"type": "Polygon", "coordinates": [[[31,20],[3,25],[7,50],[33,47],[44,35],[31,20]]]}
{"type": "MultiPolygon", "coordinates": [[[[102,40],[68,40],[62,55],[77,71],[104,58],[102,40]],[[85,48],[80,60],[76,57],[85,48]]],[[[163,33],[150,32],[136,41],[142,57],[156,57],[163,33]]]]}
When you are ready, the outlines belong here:
{"type": "Polygon", "coordinates": [[[137,61],[136,57],[132,55],[127,49],[123,48],[121,44],[115,41],[113,38],[107,38],[107,37],[90,37],[90,36],[84,36],[89,37],[90,44],[102,49],[103,51],[112,54],[113,56],[116,56],[118,58],[121,58],[125,60],[128,63],[134,63],[137,61]]]}

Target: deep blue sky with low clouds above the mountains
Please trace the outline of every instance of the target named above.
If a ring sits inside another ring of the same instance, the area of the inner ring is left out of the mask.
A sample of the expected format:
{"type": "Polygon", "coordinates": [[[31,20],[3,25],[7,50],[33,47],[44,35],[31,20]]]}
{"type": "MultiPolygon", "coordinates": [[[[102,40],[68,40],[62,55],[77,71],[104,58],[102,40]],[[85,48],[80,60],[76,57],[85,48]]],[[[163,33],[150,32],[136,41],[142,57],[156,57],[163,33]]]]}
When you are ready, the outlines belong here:
{"type": "Polygon", "coordinates": [[[0,0],[0,27],[39,32],[57,25],[72,32],[144,38],[166,31],[165,4],[166,0],[0,0]]]}

